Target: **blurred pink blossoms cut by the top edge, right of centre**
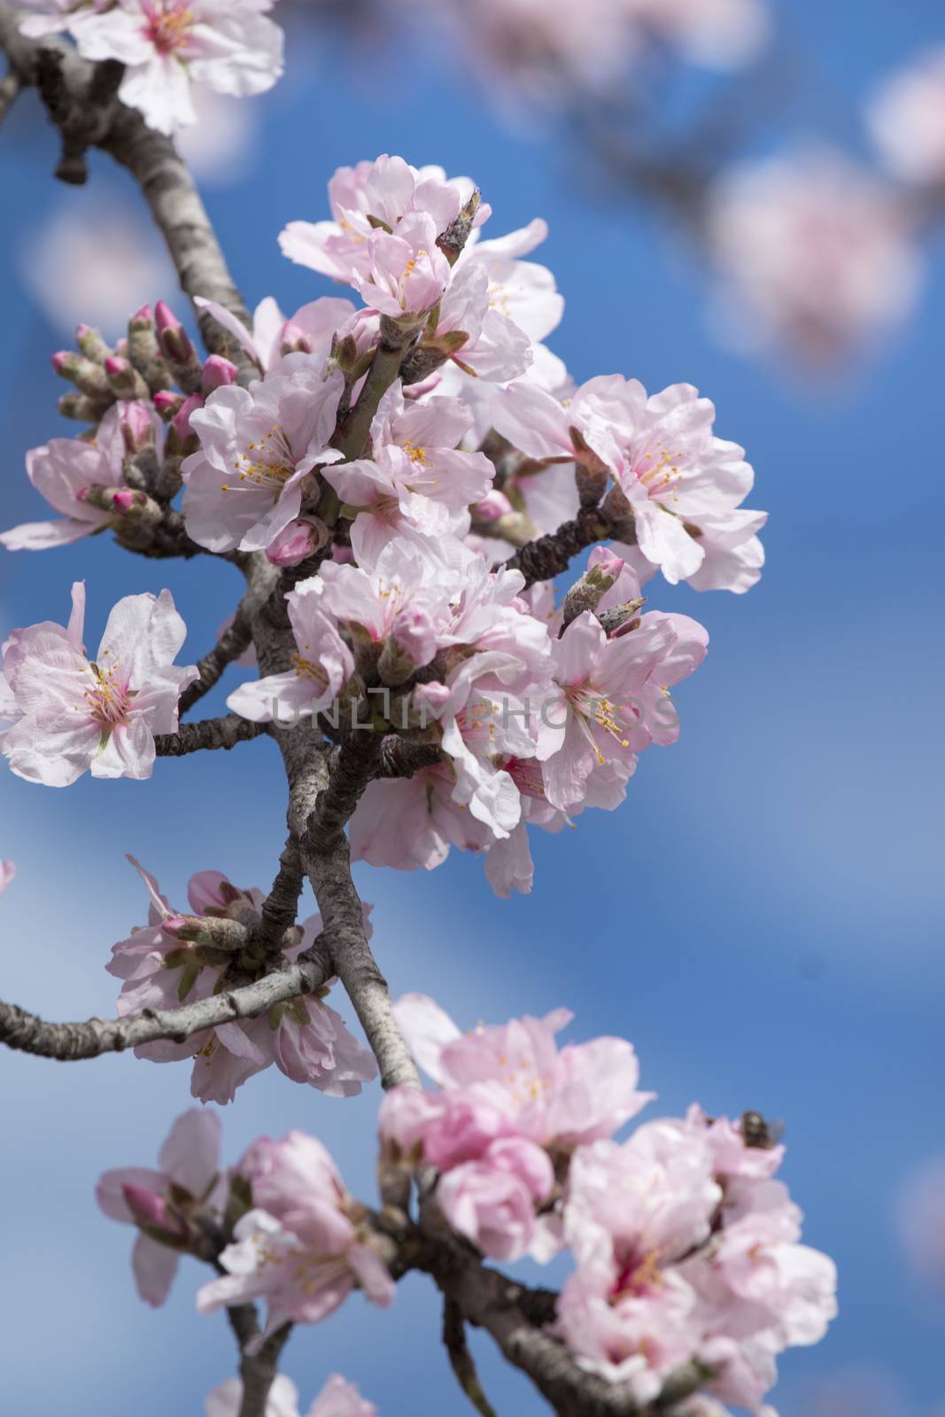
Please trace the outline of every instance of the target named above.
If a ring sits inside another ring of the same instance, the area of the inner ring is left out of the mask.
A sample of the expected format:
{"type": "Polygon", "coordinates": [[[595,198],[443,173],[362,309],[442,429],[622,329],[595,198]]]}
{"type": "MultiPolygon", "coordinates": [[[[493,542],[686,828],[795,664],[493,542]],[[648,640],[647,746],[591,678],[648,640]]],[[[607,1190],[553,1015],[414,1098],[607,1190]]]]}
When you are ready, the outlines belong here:
{"type": "Polygon", "coordinates": [[[713,69],[749,61],[769,30],[765,0],[425,0],[483,85],[519,106],[602,94],[663,52],[713,69]]]}

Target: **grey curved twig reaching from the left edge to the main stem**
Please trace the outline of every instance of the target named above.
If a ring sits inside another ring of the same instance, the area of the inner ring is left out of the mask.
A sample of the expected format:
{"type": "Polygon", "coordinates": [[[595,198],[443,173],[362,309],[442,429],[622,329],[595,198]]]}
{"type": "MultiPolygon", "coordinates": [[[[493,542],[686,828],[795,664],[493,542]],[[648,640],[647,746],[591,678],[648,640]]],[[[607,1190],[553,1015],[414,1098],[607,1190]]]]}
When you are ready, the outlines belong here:
{"type": "Polygon", "coordinates": [[[47,1023],[16,1003],[0,1002],[0,1043],[18,1053],[58,1058],[61,1063],[123,1053],[160,1039],[184,1043],[204,1029],[215,1029],[234,1019],[254,1019],[273,1003],[313,993],[332,973],[330,955],[322,942],[316,942],[285,969],[275,969],[255,983],[198,999],[180,1009],[145,1009],[126,1019],[89,1019],[86,1023],[47,1023]]]}

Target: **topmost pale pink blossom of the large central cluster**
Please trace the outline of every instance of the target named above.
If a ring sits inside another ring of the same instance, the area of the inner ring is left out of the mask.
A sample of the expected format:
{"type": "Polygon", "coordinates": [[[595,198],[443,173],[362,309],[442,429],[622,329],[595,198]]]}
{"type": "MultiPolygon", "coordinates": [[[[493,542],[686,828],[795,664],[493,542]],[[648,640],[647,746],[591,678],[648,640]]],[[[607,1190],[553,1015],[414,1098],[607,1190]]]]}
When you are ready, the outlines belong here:
{"type": "MultiPolygon", "coordinates": [[[[292,221],[279,237],[282,254],[336,281],[363,279],[370,271],[374,231],[397,231],[409,214],[434,222],[434,238],[446,230],[472,196],[466,177],[446,180],[439,167],[418,171],[402,157],[383,153],[375,162],[339,167],[329,181],[332,221],[292,221]]],[[[480,208],[482,222],[487,208],[480,208]]]]}

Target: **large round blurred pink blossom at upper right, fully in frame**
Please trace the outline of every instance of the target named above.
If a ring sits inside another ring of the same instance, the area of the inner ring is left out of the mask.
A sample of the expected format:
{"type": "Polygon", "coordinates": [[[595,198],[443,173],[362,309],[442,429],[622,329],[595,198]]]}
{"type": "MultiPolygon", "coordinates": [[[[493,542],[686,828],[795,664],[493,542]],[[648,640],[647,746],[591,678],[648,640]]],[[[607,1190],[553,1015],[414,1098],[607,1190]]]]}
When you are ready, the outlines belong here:
{"type": "Polygon", "coordinates": [[[842,364],[915,302],[921,264],[897,194],[840,153],[735,167],[706,220],[721,278],[715,313],[734,343],[842,364]]]}

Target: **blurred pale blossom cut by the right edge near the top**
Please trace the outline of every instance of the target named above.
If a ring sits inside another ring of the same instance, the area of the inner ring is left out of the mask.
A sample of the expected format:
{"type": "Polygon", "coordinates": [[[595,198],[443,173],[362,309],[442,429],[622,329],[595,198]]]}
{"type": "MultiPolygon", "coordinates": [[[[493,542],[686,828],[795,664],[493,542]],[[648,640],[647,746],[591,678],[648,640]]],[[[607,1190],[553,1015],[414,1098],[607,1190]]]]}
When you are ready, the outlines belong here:
{"type": "Polygon", "coordinates": [[[894,74],[868,111],[887,167],[912,183],[945,181],[945,45],[894,74]]]}

